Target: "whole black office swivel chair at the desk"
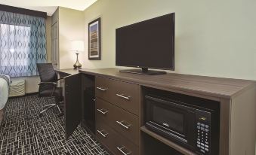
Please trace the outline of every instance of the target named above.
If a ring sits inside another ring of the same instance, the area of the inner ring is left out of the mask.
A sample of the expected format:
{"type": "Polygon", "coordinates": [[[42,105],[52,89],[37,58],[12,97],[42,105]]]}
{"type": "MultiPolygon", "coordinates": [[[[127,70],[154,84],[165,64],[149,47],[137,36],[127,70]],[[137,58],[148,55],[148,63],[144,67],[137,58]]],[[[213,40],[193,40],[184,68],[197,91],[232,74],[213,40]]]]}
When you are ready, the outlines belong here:
{"type": "Polygon", "coordinates": [[[42,117],[42,114],[45,111],[55,107],[60,111],[58,116],[63,116],[63,112],[60,109],[60,105],[63,105],[63,89],[57,87],[57,81],[60,81],[61,78],[57,78],[57,73],[54,71],[54,67],[51,63],[37,63],[36,65],[41,80],[39,84],[39,97],[55,97],[55,103],[45,105],[44,110],[40,112],[39,117],[42,117]]]}

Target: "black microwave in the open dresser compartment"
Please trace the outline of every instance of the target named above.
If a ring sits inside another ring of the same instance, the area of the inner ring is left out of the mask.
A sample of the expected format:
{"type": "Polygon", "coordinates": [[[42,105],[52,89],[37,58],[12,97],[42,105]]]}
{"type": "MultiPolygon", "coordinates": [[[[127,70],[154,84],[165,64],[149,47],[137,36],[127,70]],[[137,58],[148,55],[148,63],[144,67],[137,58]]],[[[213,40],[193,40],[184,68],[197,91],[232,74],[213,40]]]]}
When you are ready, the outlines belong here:
{"type": "Polygon", "coordinates": [[[219,123],[214,110],[158,96],[145,96],[145,126],[195,153],[218,154],[219,123]]]}

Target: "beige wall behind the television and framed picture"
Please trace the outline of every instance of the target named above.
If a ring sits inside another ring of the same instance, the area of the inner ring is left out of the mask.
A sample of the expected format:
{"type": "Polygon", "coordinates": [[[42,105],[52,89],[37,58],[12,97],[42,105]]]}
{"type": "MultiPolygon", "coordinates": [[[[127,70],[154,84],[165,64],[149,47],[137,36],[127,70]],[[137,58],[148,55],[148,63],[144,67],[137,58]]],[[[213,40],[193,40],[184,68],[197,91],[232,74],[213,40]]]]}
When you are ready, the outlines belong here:
{"type": "Polygon", "coordinates": [[[98,0],[85,10],[83,66],[115,66],[115,29],[176,13],[175,71],[256,80],[256,1],[98,0]],[[102,60],[88,60],[88,23],[102,22],[102,60]]]}

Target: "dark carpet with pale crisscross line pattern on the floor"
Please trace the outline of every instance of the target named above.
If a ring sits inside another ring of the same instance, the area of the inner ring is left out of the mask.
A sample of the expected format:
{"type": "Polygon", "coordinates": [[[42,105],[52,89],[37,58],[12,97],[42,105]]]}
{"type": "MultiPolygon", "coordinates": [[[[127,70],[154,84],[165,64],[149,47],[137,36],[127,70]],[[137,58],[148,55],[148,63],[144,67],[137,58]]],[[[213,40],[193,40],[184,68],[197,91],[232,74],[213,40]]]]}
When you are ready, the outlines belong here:
{"type": "Polygon", "coordinates": [[[66,141],[63,117],[57,117],[57,111],[39,117],[51,102],[54,99],[37,96],[9,99],[0,129],[0,154],[108,154],[81,126],[66,141]]]}

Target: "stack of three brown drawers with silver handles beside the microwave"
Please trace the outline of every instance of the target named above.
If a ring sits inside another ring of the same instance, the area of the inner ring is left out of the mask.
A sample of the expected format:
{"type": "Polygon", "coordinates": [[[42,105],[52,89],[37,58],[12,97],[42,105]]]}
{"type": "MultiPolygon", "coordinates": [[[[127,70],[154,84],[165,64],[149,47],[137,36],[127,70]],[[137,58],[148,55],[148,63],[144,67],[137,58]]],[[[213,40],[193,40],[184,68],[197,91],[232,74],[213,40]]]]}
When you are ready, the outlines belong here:
{"type": "Polygon", "coordinates": [[[114,154],[139,154],[139,85],[95,80],[97,138],[114,154]]]}

